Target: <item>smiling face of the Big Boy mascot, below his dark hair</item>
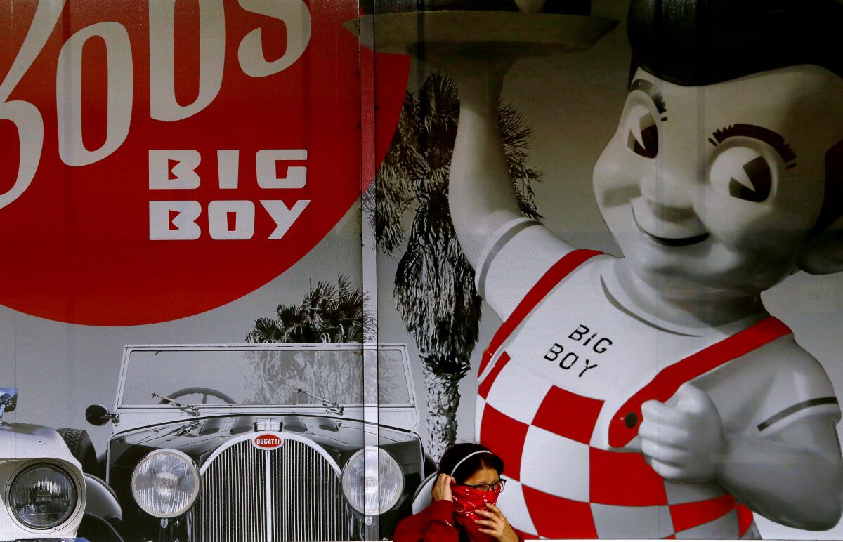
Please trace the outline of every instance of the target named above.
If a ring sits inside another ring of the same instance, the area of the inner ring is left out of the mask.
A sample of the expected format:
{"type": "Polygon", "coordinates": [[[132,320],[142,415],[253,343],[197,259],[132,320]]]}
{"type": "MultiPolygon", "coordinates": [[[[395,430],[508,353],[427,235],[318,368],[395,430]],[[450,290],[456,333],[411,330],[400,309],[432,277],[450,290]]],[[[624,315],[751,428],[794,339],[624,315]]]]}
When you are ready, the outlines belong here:
{"type": "Polygon", "coordinates": [[[593,179],[636,274],[737,293],[786,277],[819,216],[841,102],[843,80],[821,67],[705,87],[638,70],[593,179]]]}

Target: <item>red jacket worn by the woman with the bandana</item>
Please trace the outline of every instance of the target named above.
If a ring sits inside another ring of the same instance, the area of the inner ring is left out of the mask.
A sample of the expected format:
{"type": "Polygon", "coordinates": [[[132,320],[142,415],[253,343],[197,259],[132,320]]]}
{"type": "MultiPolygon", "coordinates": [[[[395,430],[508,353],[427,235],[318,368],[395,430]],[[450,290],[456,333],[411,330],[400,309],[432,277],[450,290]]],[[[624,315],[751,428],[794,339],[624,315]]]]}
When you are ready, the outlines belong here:
{"type": "MultiPolygon", "coordinates": [[[[487,534],[463,529],[454,518],[454,502],[436,501],[421,512],[404,518],[395,528],[394,542],[495,542],[487,534]]],[[[513,529],[514,530],[514,529],[513,529]]],[[[524,537],[515,531],[519,541],[524,537]]]]}

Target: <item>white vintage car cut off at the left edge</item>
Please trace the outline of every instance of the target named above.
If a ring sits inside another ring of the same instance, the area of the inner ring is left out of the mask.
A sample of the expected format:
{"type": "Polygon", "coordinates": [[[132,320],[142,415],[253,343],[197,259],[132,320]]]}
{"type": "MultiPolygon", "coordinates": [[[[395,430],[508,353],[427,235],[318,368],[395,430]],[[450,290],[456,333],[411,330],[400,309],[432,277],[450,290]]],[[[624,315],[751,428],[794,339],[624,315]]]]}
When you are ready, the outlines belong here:
{"type": "Polygon", "coordinates": [[[111,528],[121,510],[105,482],[83,474],[67,447],[87,438],[78,430],[64,434],[49,427],[9,423],[18,390],[0,388],[0,540],[120,540],[111,528]]]}

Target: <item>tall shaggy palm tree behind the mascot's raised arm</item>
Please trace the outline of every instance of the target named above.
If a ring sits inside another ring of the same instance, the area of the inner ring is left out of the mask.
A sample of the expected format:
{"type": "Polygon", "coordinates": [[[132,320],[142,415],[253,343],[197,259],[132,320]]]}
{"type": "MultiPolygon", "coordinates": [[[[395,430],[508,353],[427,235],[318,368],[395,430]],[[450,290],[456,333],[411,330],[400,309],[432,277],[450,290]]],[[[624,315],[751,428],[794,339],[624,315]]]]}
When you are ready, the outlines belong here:
{"type": "MultiPolygon", "coordinates": [[[[509,106],[500,110],[507,164],[521,212],[540,218],[527,166],[532,131],[509,106]]],[[[459,380],[470,368],[477,342],[481,298],[448,210],[448,172],[459,120],[459,94],[442,72],[429,75],[417,94],[405,95],[398,129],[363,205],[375,239],[387,255],[400,255],[395,303],[419,347],[427,388],[430,453],[440,457],[456,440],[459,380]],[[373,212],[372,212],[373,210],[373,212]],[[405,215],[412,215],[409,234],[405,215]]]]}

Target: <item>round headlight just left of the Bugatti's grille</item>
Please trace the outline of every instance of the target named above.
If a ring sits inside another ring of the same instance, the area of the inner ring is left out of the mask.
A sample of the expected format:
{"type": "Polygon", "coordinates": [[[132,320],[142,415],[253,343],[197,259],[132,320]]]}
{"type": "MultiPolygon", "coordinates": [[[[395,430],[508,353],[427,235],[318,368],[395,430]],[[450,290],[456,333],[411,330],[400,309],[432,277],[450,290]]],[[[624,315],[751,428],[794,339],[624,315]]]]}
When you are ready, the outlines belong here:
{"type": "Polygon", "coordinates": [[[175,518],[193,506],[199,494],[199,470],[178,450],[148,453],[132,473],[137,506],[156,518],[175,518]]]}

